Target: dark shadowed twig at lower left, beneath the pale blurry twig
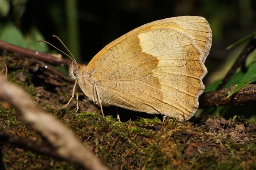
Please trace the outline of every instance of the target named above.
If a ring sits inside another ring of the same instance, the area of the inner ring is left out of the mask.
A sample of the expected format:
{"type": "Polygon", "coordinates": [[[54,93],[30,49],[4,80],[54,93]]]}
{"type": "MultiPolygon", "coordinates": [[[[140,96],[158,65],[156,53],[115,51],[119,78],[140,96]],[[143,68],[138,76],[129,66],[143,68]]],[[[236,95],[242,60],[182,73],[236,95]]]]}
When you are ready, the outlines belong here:
{"type": "Polygon", "coordinates": [[[0,131],[0,142],[8,143],[20,147],[21,149],[31,150],[35,153],[51,156],[57,159],[62,159],[55,153],[52,147],[47,146],[46,144],[41,144],[38,142],[31,141],[29,139],[24,139],[20,136],[12,135],[10,133],[6,133],[0,131]]]}

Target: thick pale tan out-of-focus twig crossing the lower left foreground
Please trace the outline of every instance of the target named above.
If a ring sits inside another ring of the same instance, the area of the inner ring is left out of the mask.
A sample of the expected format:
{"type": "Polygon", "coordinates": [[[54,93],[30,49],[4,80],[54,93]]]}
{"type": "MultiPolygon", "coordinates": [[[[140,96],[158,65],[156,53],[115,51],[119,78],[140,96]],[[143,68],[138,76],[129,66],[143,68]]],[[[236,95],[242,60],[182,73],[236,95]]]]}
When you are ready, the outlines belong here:
{"type": "Polygon", "coordinates": [[[20,87],[0,76],[0,98],[6,100],[20,112],[24,122],[44,136],[55,148],[56,153],[67,161],[72,161],[89,170],[108,170],[102,162],[88,150],[75,134],[54,116],[44,113],[35,106],[30,96],[20,87]]]}

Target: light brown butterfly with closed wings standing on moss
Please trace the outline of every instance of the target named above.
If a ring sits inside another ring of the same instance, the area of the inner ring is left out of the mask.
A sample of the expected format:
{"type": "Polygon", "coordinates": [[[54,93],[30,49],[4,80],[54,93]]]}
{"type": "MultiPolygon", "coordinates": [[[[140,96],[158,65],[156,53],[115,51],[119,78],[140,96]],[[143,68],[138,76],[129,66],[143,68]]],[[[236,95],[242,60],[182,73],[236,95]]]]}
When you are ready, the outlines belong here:
{"type": "Polygon", "coordinates": [[[76,82],[71,99],[78,83],[101,111],[102,104],[110,104],[189,119],[204,91],[204,62],[211,44],[212,31],[203,17],[147,23],[109,43],[88,65],[73,58],[69,71],[76,82]]]}

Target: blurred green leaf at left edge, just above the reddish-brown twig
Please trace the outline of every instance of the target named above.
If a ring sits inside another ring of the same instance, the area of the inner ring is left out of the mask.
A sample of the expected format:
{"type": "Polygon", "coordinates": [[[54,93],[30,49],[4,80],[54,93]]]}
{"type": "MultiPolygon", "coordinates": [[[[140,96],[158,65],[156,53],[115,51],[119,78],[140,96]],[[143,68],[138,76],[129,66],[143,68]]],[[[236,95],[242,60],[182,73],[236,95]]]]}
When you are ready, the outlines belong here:
{"type": "Polygon", "coordinates": [[[4,23],[2,27],[0,40],[26,48],[22,32],[13,23],[4,23]]]}

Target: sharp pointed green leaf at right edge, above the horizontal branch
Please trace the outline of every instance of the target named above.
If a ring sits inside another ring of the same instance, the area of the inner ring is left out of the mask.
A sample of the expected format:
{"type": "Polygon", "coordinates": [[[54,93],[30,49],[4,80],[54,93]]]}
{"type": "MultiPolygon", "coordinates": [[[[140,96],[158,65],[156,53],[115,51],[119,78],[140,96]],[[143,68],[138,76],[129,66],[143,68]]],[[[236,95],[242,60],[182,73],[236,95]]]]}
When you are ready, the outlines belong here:
{"type": "Polygon", "coordinates": [[[244,74],[236,88],[233,91],[231,91],[230,95],[228,95],[227,98],[236,93],[237,91],[239,91],[245,85],[254,81],[256,81],[256,57],[254,57],[253,63],[249,66],[247,73],[244,74]]]}

